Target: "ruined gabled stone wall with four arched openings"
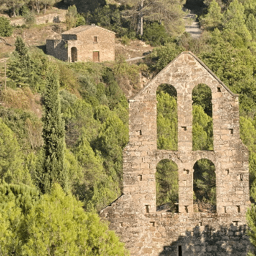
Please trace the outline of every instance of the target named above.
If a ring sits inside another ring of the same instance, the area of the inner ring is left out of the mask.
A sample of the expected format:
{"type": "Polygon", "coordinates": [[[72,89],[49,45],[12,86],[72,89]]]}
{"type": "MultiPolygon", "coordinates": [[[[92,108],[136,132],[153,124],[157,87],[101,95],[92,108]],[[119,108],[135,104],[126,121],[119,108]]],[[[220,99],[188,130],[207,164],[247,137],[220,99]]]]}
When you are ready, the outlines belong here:
{"type": "Polygon", "coordinates": [[[124,191],[100,212],[131,255],[246,255],[249,207],[248,150],[239,135],[238,95],[190,52],[181,53],[133,99],[129,99],[129,143],[123,151],[124,191]],[[212,94],[214,150],[192,151],[192,89],[212,94]],[[157,87],[177,91],[178,151],[157,149],[157,87]],[[156,211],[156,167],[178,165],[178,213],[156,211]],[[193,166],[209,159],[216,168],[217,213],[194,212],[193,166]]]}

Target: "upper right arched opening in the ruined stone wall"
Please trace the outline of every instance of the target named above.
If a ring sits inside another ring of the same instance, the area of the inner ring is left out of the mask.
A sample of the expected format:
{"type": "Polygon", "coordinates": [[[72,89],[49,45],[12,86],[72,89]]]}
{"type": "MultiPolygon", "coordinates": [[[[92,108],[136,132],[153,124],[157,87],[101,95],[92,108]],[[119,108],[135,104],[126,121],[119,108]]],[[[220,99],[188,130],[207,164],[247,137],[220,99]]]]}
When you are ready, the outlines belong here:
{"type": "Polygon", "coordinates": [[[201,83],[192,91],[193,150],[214,150],[211,89],[201,83]]]}

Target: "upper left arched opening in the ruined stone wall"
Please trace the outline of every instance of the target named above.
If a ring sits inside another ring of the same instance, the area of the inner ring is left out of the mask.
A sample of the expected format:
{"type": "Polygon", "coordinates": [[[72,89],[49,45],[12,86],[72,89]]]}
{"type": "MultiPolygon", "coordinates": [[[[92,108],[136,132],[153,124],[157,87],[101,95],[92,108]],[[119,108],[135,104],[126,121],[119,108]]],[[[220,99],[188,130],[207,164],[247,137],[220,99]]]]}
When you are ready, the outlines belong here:
{"type": "Polygon", "coordinates": [[[157,148],[178,150],[177,91],[169,84],[157,89],[157,148]]]}

